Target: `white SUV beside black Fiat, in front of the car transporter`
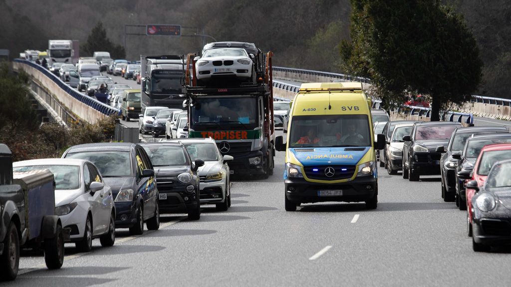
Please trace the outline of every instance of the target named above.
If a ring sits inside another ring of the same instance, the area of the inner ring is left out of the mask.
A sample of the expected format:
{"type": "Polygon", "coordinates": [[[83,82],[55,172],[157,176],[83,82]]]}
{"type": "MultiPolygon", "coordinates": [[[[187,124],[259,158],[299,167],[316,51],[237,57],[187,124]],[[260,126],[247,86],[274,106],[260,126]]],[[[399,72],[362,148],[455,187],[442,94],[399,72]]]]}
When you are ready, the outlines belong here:
{"type": "Polygon", "coordinates": [[[230,172],[227,163],[234,158],[220,153],[212,138],[182,138],[192,161],[204,160],[199,168],[200,203],[215,204],[217,210],[225,211],[230,207],[230,172]]]}

